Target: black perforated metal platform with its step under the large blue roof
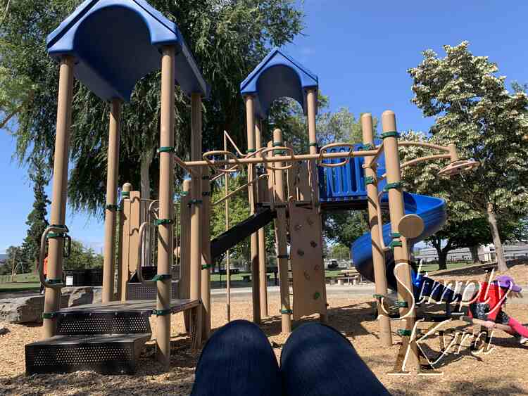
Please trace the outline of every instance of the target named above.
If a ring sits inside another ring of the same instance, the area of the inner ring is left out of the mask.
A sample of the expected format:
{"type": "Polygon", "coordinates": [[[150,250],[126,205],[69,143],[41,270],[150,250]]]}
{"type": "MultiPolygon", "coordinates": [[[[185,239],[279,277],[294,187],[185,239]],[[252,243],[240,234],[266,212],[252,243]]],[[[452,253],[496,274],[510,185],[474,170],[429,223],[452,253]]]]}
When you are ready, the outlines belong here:
{"type": "MultiPolygon", "coordinates": [[[[199,305],[171,300],[172,313],[199,305]]],[[[25,346],[26,374],[93,370],[132,374],[151,338],[149,317],[156,300],[113,301],[63,308],[55,312],[57,336],[25,346]]]]}

